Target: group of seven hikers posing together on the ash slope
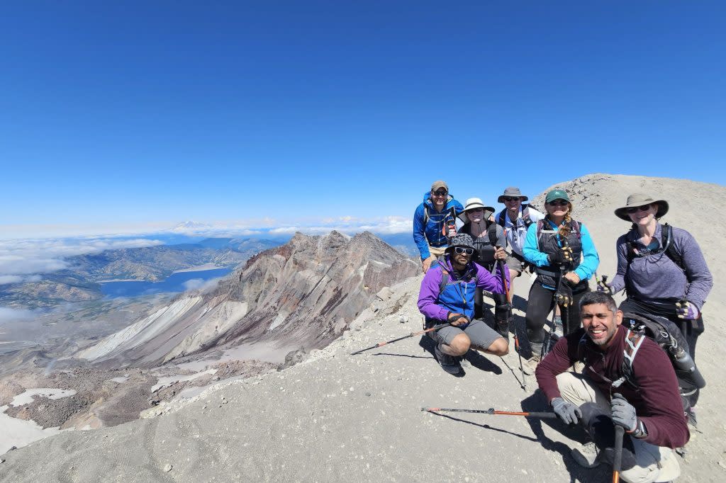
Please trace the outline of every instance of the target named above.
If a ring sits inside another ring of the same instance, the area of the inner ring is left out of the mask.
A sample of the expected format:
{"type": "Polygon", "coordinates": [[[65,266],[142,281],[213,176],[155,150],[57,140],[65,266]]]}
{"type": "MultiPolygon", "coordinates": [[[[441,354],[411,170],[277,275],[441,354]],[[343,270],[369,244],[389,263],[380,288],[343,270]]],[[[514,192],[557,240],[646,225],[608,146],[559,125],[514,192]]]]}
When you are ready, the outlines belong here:
{"type": "Polygon", "coordinates": [[[618,453],[625,481],[674,479],[680,467],[673,450],[696,426],[705,384],[693,361],[712,278],[696,239],[660,223],[669,210],[664,199],[631,194],[614,213],[632,225],[616,241],[617,270],[608,282],[596,276],[600,257],[590,231],[573,218],[568,193],[549,191],[544,212],[527,201],[509,187],[497,198],[499,212],[476,197],[461,205],[436,181],[417,207],[413,237],[425,273],[418,307],[436,360],[461,376],[470,349],[507,354],[510,331],[521,358],[510,293],[514,279],[530,271],[531,355],[521,360],[522,377],[534,373],[558,417],[589,434],[590,442],[572,450],[575,460],[592,468],[618,453]],[[618,307],[612,295],[622,290],[618,307]],[[484,293],[494,301],[493,319],[485,317],[484,293]],[[613,450],[618,426],[628,435],[621,451],[613,450]]]}

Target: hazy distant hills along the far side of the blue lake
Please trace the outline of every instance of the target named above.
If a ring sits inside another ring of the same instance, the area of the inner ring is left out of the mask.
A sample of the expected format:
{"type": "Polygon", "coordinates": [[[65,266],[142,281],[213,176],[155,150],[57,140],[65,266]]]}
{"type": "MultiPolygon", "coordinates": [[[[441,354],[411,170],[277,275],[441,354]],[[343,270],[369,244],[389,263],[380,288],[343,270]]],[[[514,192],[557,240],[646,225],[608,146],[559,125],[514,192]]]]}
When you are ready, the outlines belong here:
{"type": "Polygon", "coordinates": [[[62,271],[41,274],[40,281],[0,285],[0,306],[52,307],[64,302],[102,298],[100,281],[129,279],[160,281],[199,265],[234,268],[279,241],[242,238],[208,238],[197,243],[107,250],[76,255],[62,271]]]}

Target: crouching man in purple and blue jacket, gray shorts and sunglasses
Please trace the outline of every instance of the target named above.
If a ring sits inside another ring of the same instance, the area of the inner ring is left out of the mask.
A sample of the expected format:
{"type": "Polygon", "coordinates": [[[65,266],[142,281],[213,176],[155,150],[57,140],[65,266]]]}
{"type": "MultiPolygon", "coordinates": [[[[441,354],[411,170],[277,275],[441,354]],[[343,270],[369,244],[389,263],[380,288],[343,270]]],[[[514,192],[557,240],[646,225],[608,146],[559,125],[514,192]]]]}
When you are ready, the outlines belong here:
{"type": "MultiPolygon", "coordinates": [[[[506,355],[509,342],[489,328],[484,321],[474,319],[476,288],[504,293],[501,264],[492,275],[481,265],[473,263],[474,245],[471,236],[457,234],[449,242],[444,257],[431,264],[421,281],[418,308],[426,318],[426,326],[442,322],[451,325],[428,335],[437,342],[436,360],[444,371],[461,372],[460,356],[470,348],[493,355],[506,355]]],[[[509,270],[503,274],[509,283],[509,270]]]]}

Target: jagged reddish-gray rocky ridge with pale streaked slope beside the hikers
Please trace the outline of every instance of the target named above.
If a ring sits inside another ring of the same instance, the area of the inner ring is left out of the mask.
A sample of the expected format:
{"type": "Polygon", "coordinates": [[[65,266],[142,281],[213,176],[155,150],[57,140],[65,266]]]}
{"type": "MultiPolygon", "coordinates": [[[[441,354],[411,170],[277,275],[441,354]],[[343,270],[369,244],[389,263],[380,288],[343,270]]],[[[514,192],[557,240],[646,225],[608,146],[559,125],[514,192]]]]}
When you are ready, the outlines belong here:
{"type": "Polygon", "coordinates": [[[250,258],[213,292],[177,297],[77,356],[155,366],[250,342],[324,347],[380,289],[417,273],[416,263],[368,232],[298,233],[250,258]]]}

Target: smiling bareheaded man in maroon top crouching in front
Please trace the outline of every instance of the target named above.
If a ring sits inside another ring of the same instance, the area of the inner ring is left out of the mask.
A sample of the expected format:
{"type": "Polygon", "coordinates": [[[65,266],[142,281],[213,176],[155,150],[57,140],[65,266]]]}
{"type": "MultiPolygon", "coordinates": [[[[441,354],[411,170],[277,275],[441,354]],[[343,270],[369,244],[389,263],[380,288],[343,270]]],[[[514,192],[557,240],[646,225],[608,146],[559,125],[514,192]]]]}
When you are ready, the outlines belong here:
{"type": "MultiPolygon", "coordinates": [[[[579,422],[592,442],[572,450],[575,461],[594,468],[612,463],[614,424],[623,426],[621,478],[667,482],[680,475],[673,448],[688,442],[678,383],[666,352],[643,336],[632,358],[630,381],[623,360],[629,331],[610,295],[590,292],[580,301],[582,329],[562,337],[537,366],[537,383],[566,424],[579,422]],[[568,371],[584,363],[582,373],[568,371]]],[[[638,340],[638,339],[631,339],[638,340]]],[[[633,355],[631,349],[627,352],[633,355]]]]}

